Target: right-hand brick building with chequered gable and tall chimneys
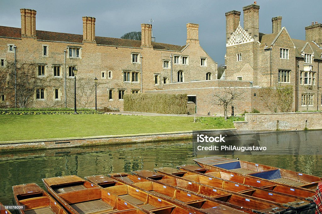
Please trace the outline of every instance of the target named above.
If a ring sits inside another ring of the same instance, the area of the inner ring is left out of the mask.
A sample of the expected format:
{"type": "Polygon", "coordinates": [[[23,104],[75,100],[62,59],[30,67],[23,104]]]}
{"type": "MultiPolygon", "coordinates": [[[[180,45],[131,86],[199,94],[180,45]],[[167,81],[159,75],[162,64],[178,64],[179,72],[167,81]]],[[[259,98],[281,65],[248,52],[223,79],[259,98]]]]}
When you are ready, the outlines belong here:
{"type": "Polygon", "coordinates": [[[293,86],[293,111],[320,110],[322,24],[305,27],[306,40],[292,39],[282,17],[272,18],[272,33],[259,32],[256,2],[226,15],[225,79],[247,80],[254,86],[293,86]]]}

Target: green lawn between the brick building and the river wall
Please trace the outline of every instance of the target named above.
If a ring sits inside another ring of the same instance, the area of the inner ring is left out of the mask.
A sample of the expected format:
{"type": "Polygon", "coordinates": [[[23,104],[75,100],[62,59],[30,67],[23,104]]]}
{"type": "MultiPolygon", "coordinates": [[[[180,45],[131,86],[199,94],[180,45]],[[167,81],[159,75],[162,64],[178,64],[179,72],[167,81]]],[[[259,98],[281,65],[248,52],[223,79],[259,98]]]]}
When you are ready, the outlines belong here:
{"type": "Polygon", "coordinates": [[[0,115],[0,141],[233,128],[232,120],[185,116],[0,115]]]}

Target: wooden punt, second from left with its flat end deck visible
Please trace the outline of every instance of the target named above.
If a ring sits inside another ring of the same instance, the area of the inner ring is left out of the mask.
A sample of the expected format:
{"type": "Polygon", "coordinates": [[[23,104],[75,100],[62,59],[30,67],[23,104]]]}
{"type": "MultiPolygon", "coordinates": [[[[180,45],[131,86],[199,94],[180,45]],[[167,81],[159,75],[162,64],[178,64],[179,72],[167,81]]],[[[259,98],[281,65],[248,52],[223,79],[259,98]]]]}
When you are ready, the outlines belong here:
{"type": "Polygon", "coordinates": [[[143,214],[144,212],[76,176],[44,178],[47,191],[71,214],[143,214]]]}

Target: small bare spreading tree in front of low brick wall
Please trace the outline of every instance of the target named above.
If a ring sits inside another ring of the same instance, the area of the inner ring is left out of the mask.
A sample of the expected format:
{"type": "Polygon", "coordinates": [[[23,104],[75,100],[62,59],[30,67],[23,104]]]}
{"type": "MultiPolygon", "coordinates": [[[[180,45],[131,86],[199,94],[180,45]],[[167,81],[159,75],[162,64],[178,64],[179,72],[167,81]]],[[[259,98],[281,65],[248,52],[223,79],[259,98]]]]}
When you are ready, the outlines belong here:
{"type": "Polygon", "coordinates": [[[214,94],[213,103],[217,106],[222,106],[224,111],[225,120],[227,120],[227,112],[229,106],[234,106],[234,101],[242,100],[244,90],[240,88],[219,88],[214,94]]]}

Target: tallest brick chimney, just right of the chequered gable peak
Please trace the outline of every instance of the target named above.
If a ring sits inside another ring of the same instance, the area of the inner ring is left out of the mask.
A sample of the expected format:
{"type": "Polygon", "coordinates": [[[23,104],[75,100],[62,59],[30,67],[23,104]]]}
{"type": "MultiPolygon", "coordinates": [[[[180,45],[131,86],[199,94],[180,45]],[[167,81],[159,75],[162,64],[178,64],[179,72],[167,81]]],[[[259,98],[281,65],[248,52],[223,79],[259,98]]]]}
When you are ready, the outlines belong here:
{"type": "Polygon", "coordinates": [[[258,41],[260,6],[254,2],[252,5],[243,7],[242,10],[244,11],[244,30],[254,38],[254,41],[258,41]]]}

